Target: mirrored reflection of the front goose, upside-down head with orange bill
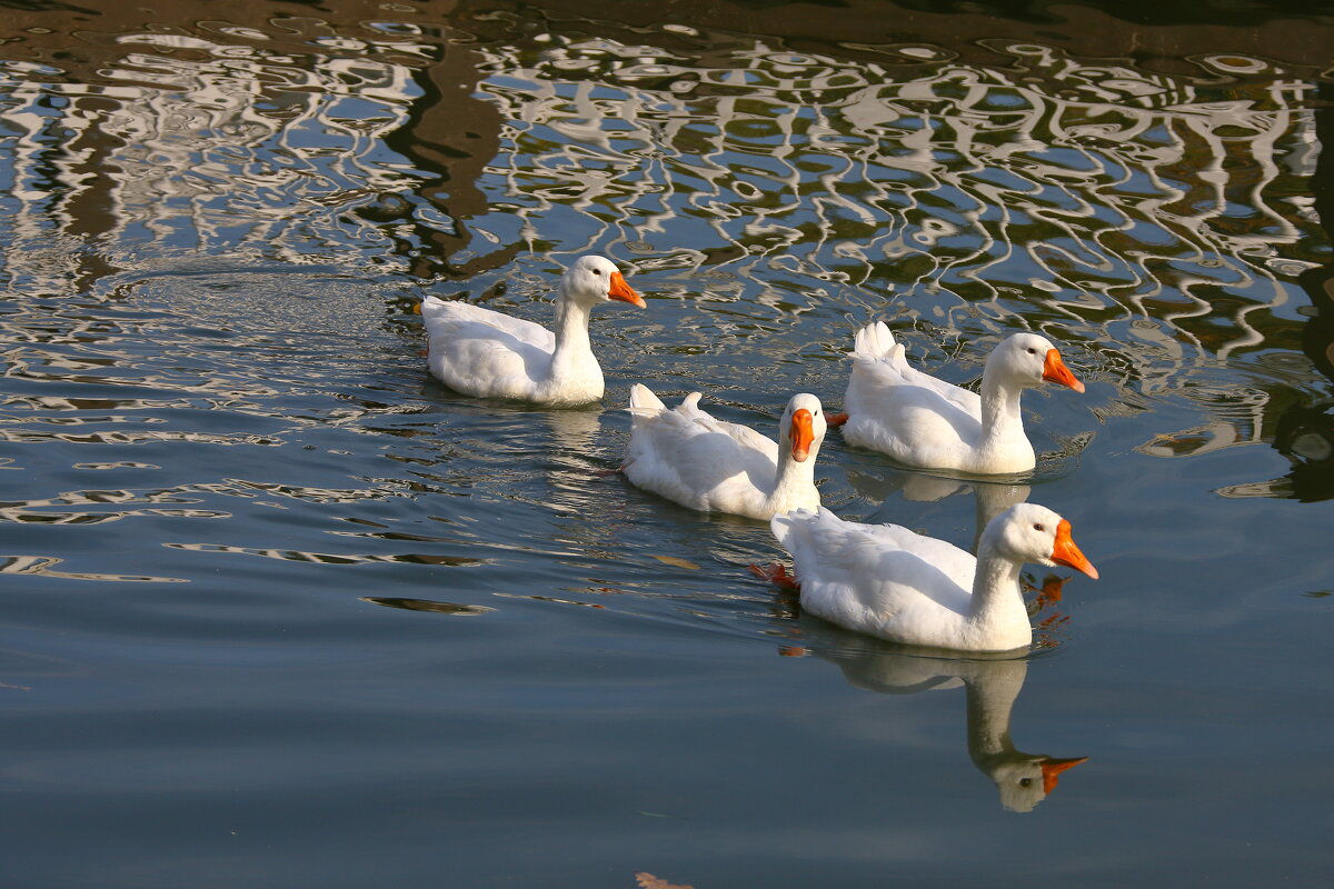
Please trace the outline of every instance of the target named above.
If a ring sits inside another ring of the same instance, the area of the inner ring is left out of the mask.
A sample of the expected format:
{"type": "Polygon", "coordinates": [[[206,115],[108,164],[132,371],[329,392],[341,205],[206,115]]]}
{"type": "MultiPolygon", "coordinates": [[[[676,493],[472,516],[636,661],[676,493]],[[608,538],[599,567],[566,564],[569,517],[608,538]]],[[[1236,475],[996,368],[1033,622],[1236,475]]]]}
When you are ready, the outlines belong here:
{"type": "Polygon", "coordinates": [[[1062,773],[1089,757],[1053,757],[1026,753],[1010,737],[1014,702],[1029,673],[1026,658],[924,656],[924,649],[900,649],[827,624],[803,621],[812,646],[787,648],[783,654],[814,653],[834,661],[855,688],[882,694],[916,694],[964,689],[968,757],[991,778],[1000,805],[1010,812],[1031,812],[1051,796],[1062,773]]]}

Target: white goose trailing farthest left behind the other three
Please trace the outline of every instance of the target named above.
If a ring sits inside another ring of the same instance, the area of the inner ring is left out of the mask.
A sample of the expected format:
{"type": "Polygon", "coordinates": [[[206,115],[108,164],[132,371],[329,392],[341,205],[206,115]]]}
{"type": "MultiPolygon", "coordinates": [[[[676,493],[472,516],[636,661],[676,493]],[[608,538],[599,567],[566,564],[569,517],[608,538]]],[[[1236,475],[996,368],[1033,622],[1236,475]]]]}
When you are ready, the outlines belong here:
{"type": "Polygon", "coordinates": [[[608,300],[644,308],[611,260],[583,256],[560,276],[555,333],[532,321],[428,296],[422,317],[427,363],[442,383],[478,397],[575,405],[603,393],[588,344],[588,313],[608,300]]]}

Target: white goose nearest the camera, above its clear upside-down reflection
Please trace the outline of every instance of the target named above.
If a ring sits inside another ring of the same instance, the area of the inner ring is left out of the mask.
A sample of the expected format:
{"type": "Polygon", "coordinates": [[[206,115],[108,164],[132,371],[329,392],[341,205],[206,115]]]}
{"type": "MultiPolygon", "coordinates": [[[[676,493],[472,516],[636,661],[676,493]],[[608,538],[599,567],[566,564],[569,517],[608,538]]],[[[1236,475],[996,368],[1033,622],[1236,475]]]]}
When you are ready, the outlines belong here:
{"type": "MultiPolygon", "coordinates": [[[[1098,570],[1070,538],[1070,522],[1015,504],[982,533],[978,556],[899,525],[843,521],[828,509],[776,516],[792,554],[802,609],[846,629],[906,645],[1006,652],[1033,641],[1019,590],[1025,562],[1098,570]]],[[[779,580],[782,569],[772,576],[779,580]]]]}

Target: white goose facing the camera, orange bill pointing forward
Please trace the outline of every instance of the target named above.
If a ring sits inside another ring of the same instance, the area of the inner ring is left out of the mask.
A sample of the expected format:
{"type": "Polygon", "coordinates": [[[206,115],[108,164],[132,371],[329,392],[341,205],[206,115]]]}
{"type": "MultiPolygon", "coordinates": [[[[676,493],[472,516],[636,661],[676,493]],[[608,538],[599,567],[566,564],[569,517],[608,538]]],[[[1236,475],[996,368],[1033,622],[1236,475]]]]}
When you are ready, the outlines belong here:
{"type": "Polygon", "coordinates": [[[824,412],[814,395],[794,395],[779,421],[779,443],[754,429],[715,420],[699,393],[670,411],[646,385],[630,389],[630,445],[622,472],[639,488],[683,506],[772,518],[818,509],[815,454],[824,412]]]}

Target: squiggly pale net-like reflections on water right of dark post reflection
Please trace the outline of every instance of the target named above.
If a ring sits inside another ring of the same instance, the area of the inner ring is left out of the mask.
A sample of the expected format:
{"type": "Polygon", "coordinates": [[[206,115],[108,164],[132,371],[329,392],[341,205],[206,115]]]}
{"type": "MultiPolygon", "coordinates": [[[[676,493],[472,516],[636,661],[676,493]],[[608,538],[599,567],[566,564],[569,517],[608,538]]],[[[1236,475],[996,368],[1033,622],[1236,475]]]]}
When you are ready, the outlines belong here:
{"type": "Polygon", "coordinates": [[[1185,355],[1261,344],[1249,316],[1279,312],[1327,259],[1293,199],[1314,87],[1259,60],[1250,73],[1273,79],[1223,101],[1023,44],[992,47],[1009,68],[910,76],[763,44],[720,68],[552,44],[540,64],[494,52],[482,84],[515,121],[494,205],[535,247],[559,220],[562,253],[624,244],[652,253],[643,269],[760,277],[762,303],[832,297],[955,335],[1027,317],[1135,351],[1149,391],[1181,385],[1185,355]]]}

